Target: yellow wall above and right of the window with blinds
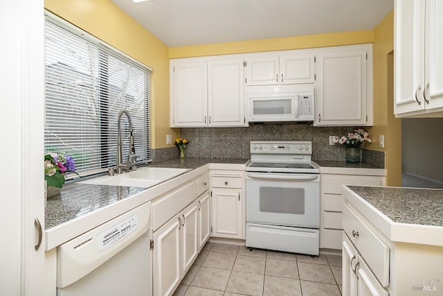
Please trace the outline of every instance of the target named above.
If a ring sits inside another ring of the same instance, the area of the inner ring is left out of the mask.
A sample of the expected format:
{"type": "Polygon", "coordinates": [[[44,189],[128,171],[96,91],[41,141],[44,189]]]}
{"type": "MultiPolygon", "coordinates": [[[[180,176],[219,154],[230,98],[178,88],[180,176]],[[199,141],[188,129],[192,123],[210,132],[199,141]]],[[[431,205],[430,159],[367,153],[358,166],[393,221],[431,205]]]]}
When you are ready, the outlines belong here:
{"type": "MultiPolygon", "coordinates": [[[[152,73],[152,148],[166,147],[169,128],[168,46],[112,3],[111,0],[45,0],[44,6],[100,40],[154,69],[152,73]]],[[[170,145],[173,146],[173,145],[170,145]]]]}

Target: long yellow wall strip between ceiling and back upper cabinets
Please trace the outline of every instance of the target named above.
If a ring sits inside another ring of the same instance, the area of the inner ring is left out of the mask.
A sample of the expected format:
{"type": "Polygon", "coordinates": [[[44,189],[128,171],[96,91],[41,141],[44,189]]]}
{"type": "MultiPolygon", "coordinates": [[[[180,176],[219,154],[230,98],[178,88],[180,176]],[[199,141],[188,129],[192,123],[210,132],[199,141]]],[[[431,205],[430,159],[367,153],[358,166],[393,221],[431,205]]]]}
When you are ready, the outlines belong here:
{"type": "Polygon", "coordinates": [[[260,51],[282,51],[289,49],[311,49],[314,47],[364,44],[374,42],[373,31],[352,31],[302,35],[263,40],[248,40],[195,46],[170,47],[170,58],[190,58],[204,55],[226,55],[254,53],[260,51]]]}

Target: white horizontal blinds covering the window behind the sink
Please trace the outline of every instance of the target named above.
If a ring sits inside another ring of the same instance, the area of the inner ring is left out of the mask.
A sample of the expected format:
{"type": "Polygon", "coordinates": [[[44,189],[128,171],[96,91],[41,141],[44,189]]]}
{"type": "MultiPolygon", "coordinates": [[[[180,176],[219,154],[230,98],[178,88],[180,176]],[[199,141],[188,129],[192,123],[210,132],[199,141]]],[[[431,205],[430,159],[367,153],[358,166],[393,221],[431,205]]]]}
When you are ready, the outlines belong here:
{"type": "MultiPolygon", "coordinates": [[[[82,176],[107,171],[116,166],[118,113],[127,110],[138,161],[152,161],[150,69],[51,16],[46,16],[45,40],[45,153],[71,155],[82,176]]],[[[125,163],[125,115],[121,127],[125,163]]]]}

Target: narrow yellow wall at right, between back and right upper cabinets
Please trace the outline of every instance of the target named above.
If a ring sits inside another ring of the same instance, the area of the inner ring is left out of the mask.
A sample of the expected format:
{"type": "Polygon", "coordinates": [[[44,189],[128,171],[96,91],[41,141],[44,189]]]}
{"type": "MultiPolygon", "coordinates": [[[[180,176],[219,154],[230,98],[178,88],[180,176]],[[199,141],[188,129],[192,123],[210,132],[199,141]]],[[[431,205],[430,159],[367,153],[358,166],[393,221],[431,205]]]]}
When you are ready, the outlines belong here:
{"type": "Polygon", "coordinates": [[[386,153],[388,186],[401,186],[401,119],[395,119],[393,101],[394,12],[391,11],[374,28],[374,126],[369,132],[374,140],[365,148],[386,153]],[[379,147],[383,134],[385,148],[379,147]]]}

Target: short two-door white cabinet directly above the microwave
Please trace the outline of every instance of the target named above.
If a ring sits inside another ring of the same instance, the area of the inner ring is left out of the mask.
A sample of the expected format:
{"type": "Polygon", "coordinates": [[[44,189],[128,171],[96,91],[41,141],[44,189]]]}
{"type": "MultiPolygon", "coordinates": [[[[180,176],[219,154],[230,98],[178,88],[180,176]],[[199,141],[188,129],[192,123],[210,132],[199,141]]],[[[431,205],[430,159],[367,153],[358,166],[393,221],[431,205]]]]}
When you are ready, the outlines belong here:
{"type": "Polygon", "coordinates": [[[314,83],[314,53],[275,53],[246,59],[246,85],[314,83]]]}

